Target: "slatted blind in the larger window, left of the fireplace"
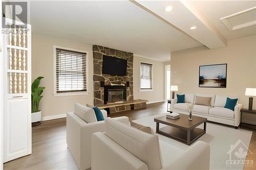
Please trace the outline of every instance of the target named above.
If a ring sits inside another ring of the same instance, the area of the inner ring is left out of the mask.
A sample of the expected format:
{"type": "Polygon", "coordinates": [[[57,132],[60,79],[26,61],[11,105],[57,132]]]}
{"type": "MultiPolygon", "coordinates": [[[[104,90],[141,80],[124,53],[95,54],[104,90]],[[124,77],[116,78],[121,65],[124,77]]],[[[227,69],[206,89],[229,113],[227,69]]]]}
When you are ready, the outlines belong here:
{"type": "Polygon", "coordinates": [[[87,91],[87,53],[56,49],[56,92],[87,91]]]}

